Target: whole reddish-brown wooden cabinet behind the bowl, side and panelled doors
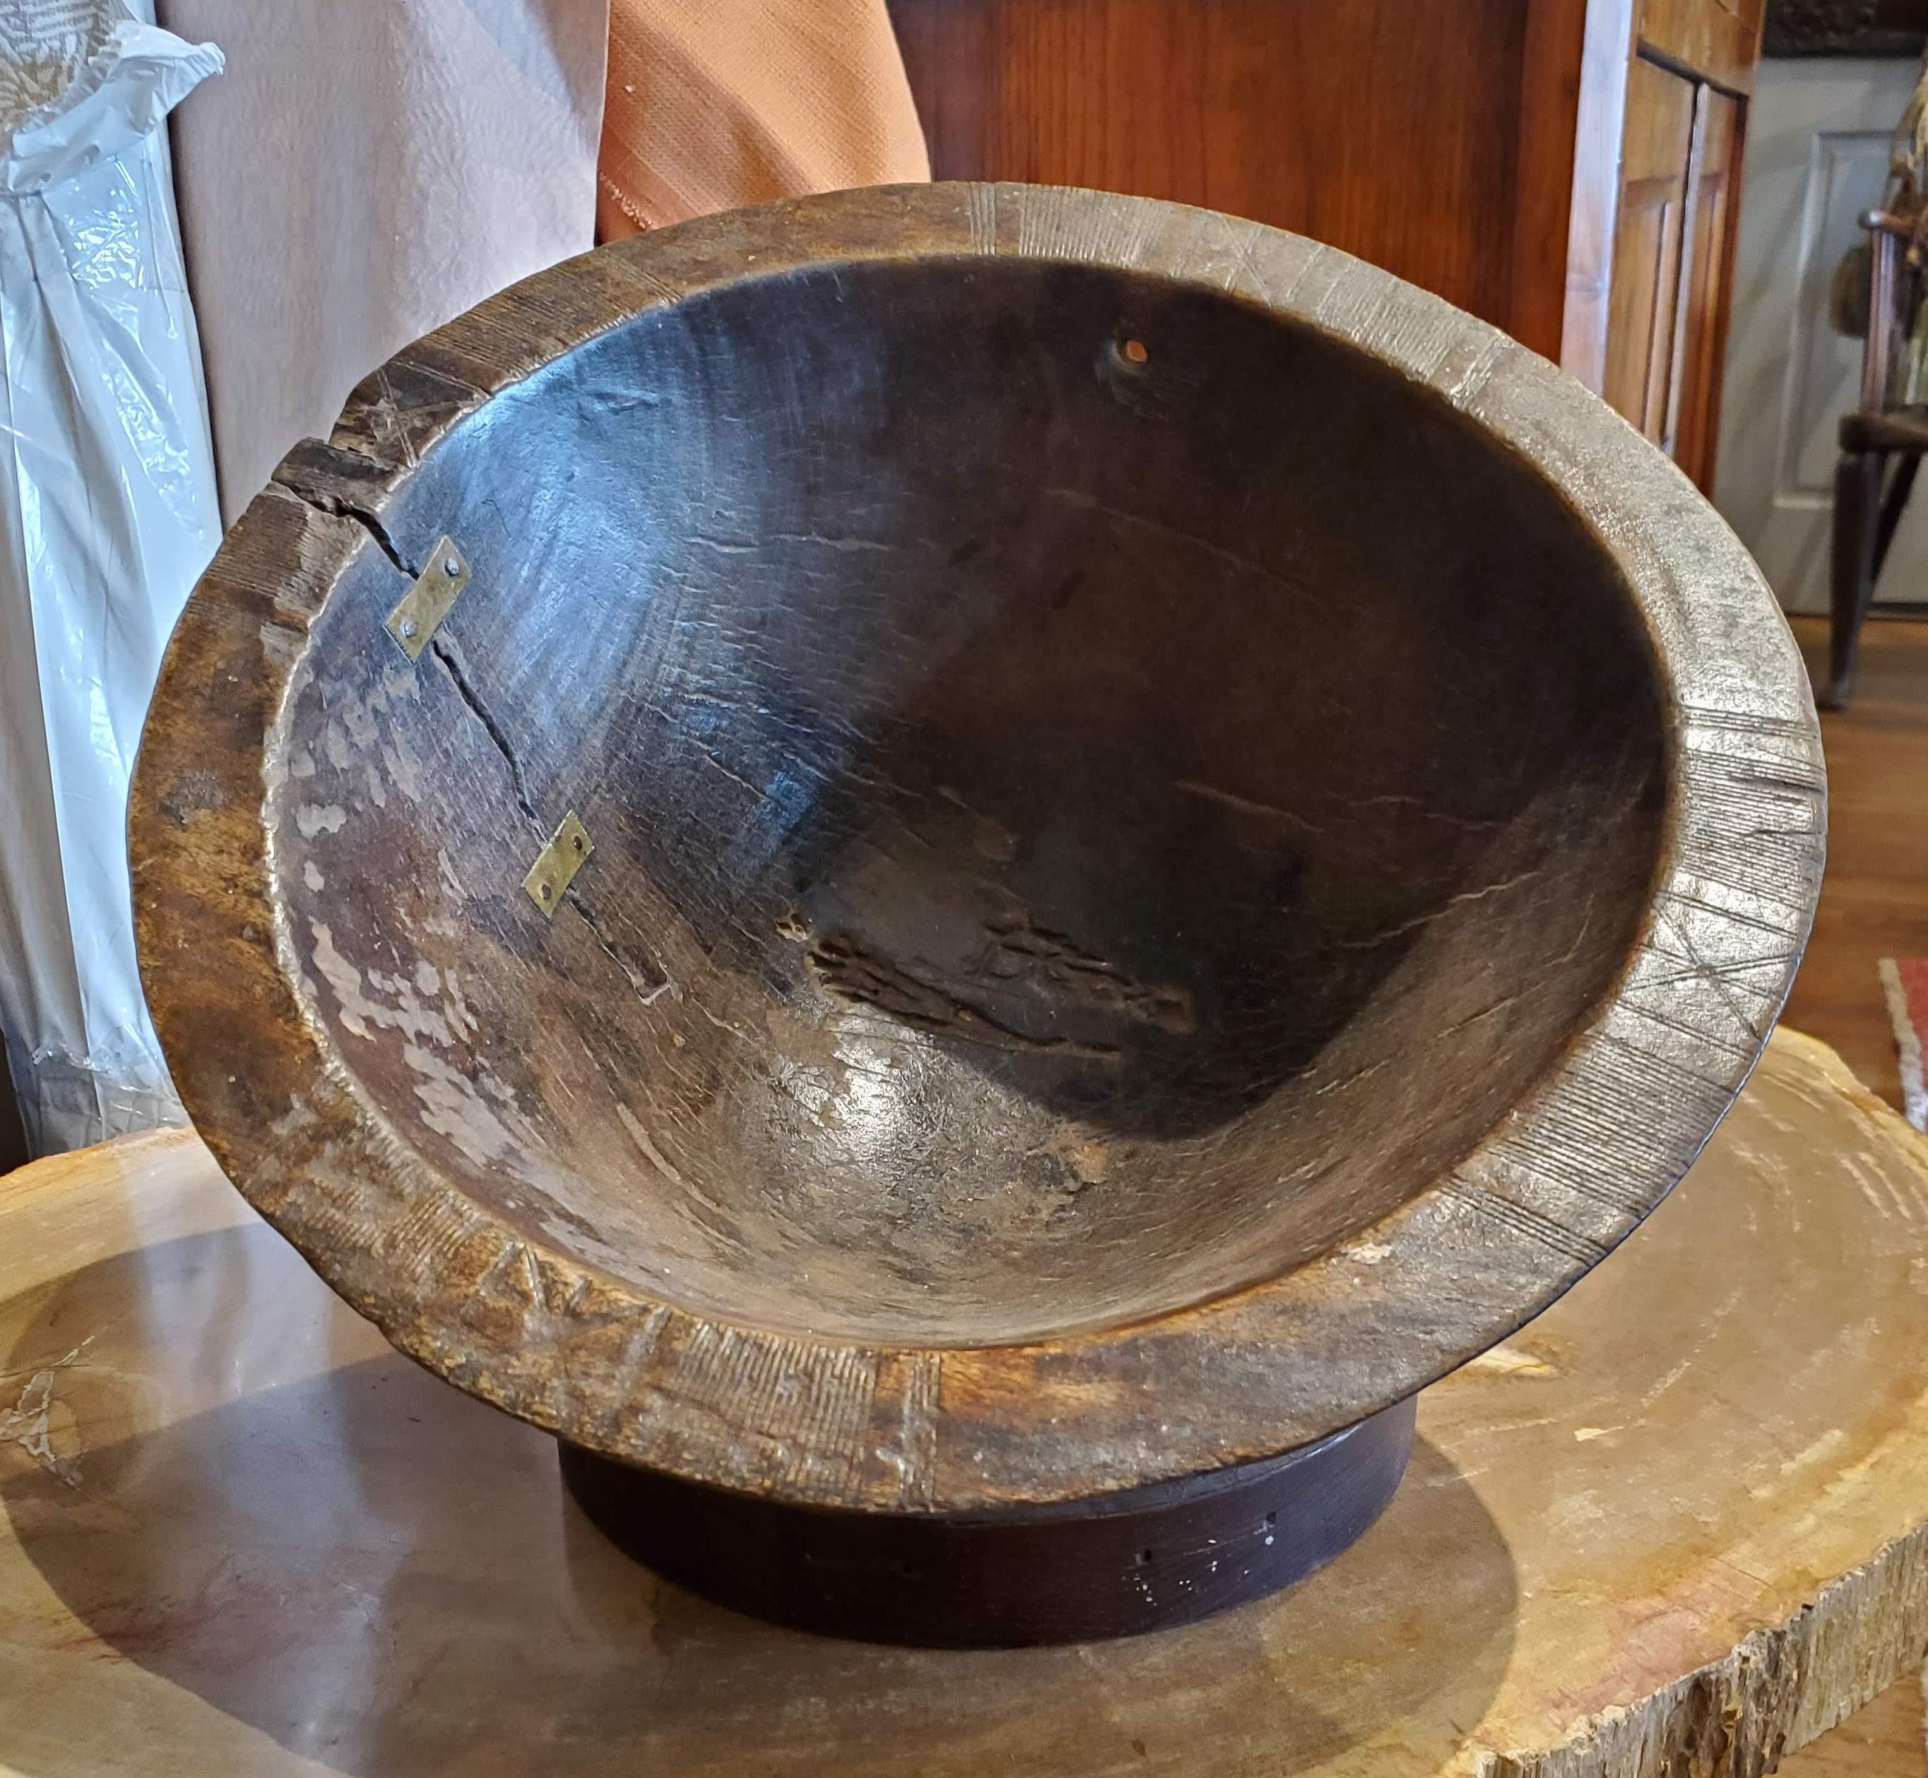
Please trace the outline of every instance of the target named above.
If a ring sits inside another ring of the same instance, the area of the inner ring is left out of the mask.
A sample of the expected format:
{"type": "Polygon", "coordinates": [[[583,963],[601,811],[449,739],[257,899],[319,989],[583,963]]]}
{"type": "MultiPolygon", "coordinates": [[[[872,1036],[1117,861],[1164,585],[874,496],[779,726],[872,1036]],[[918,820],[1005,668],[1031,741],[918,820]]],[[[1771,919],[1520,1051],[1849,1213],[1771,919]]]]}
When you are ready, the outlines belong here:
{"type": "Polygon", "coordinates": [[[1760,0],[891,0],[931,162],[1211,204],[1471,309],[1712,476],[1760,0]]]}

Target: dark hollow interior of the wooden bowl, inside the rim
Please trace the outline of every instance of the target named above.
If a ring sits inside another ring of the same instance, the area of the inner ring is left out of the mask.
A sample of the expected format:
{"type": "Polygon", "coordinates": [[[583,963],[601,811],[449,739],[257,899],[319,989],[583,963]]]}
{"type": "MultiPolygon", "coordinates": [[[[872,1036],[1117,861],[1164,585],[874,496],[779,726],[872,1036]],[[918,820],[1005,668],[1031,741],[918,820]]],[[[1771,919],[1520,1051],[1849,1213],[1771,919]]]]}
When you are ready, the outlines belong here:
{"type": "Polygon", "coordinates": [[[418,663],[372,548],[310,631],[285,966],[403,1151],[710,1319],[1014,1342],[1369,1242],[1641,935],[1668,706],[1606,550],[1232,297],[735,283],[401,499],[474,579],[418,663]]]}

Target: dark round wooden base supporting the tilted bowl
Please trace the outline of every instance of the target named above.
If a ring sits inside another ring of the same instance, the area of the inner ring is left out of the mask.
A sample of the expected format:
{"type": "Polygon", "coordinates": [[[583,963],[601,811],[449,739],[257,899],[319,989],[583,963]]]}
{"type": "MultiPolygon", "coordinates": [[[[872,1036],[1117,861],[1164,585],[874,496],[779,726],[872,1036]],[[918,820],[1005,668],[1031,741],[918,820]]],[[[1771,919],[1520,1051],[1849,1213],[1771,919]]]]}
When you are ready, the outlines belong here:
{"type": "Polygon", "coordinates": [[[987,1516],[825,1512],[563,1444],[619,1549],[754,1618],[927,1649],[1099,1641],[1193,1624],[1323,1568],[1392,1500],[1415,1400],[1303,1450],[987,1516]]]}

